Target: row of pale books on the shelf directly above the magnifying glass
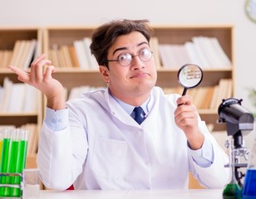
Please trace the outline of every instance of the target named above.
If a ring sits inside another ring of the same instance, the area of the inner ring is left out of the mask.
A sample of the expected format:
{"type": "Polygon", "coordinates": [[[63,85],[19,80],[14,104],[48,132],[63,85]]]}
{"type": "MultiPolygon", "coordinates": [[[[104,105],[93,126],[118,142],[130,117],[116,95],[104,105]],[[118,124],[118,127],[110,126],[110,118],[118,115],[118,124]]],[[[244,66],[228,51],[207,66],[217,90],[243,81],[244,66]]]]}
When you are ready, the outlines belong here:
{"type": "Polygon", "coordinates": [[[152,40],[155,63],[164,68],[179,69],[188,63],[203,69],[230,69],[232,66],[216,37],[194,36],[184,44],[159,44],[154,37],[152,40]]]}

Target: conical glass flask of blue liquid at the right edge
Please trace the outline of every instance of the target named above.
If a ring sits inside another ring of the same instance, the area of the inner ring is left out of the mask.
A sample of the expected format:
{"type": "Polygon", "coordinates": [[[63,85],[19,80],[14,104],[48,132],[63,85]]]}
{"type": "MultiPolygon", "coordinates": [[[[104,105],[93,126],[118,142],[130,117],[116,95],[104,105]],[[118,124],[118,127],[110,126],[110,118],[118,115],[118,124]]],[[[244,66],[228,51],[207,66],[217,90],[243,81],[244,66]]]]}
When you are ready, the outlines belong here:
{"type": "Polygon", "coordinates": [[[242,196],[243,199],[256,199],[256,140],[245,173],[242,196]]]}

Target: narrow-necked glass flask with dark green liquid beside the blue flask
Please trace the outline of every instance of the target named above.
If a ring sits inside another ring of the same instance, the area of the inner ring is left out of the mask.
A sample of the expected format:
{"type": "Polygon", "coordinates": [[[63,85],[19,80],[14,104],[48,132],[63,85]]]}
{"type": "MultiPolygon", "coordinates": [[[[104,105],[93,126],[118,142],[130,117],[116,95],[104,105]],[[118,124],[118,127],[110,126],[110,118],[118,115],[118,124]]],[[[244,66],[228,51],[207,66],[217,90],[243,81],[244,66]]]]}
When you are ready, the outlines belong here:
{"type": "Polygon", "coordinates": [[[224,199],[241,199],[241,187],[235,178],[235,163],[234,163],[234,140],[230,138],[229,143],[229,167],[230,167],[230,182],[224,188],[222,197],[224,199]]]}

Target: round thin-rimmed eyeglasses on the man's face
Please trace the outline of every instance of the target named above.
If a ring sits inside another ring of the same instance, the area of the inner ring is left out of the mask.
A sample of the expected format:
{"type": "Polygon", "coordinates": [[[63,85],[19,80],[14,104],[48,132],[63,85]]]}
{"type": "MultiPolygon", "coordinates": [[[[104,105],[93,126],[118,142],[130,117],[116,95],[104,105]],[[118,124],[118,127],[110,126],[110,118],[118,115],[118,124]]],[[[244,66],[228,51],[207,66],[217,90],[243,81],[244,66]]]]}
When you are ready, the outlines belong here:
{"type": "MultiPolygon", "coordinates": [[[[149,47],[145,47],[140,49],[139,54],[136,56],[139,56],[140,61],[150,61],[151,57],[152,57],[152,51],[150,50],[149,47]]],[[[117,60],[106,60],[106,62],[108,61],[118,61],[121,66],[129,66],[130,62],[132,61],[132,58],[135,56],[131,56],[130,53],[128,52],[124,52],[121,53],[118,57],[117,60]]]]}

